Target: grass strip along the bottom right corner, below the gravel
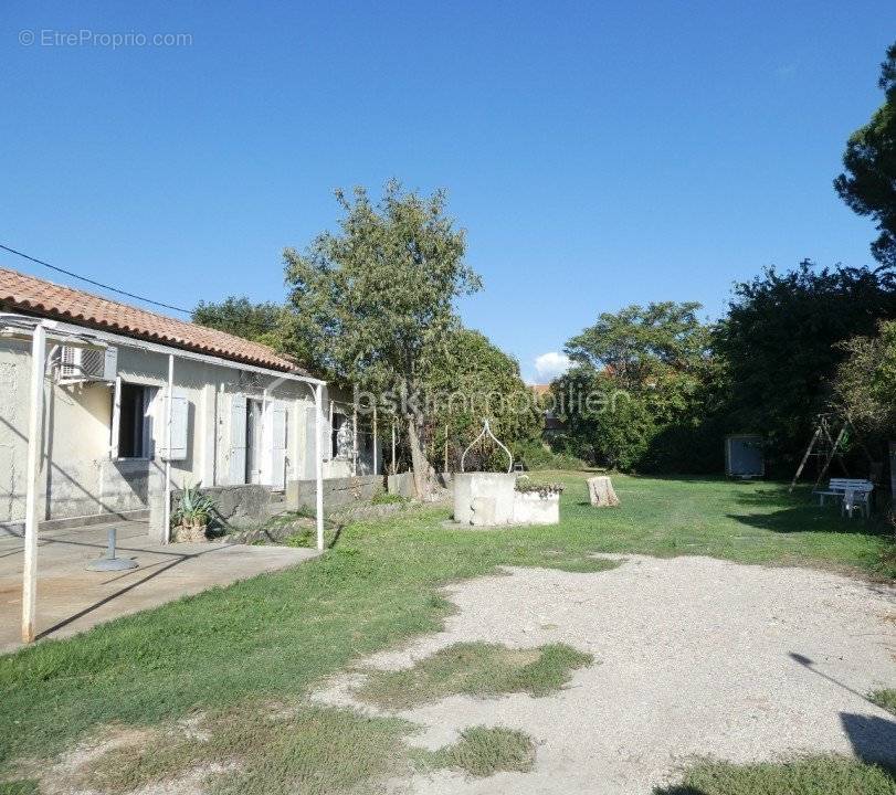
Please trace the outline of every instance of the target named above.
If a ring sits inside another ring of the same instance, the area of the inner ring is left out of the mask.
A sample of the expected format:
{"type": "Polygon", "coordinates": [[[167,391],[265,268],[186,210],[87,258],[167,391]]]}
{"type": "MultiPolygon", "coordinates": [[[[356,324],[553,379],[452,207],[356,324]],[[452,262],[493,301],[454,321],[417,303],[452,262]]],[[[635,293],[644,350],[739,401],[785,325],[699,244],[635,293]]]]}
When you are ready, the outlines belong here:
{"type": "Polygon", "coordinates": [[[735,765],[703,762],[682,784],[654,795],[894,795],[896,781],[877,765],[843,756],[735,765]]]}

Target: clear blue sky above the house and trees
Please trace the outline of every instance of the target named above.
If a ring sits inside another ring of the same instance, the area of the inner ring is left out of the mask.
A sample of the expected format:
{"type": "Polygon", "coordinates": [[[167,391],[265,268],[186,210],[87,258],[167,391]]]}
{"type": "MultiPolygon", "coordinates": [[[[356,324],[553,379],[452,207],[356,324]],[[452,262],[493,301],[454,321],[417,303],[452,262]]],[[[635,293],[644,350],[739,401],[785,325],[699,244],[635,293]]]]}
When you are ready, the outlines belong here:
{"type": "Polygon", "coordinates": [[[180,306],[278,299],[334,188],[444,187],[485,282],[464,319],[531,379],[601,311],[871,263],[831,181],[892,0],[739,6],[6,2],[0,242],[180,306]]]}

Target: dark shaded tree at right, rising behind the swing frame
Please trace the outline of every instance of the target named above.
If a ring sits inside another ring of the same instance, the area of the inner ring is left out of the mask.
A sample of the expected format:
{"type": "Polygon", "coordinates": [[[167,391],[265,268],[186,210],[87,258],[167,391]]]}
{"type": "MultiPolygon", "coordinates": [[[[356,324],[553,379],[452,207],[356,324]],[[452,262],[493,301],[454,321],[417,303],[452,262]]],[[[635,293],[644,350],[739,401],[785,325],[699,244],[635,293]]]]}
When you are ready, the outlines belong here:
{"type": "Polygon", "coordinates": [[[867,268],[767,268],[735,286],[714,350],[723,365],[727,426],[767,436],[770,464],[795,466],[814,417],[830,406],[840,343],[896,316],[893,276],[867,268]]]}

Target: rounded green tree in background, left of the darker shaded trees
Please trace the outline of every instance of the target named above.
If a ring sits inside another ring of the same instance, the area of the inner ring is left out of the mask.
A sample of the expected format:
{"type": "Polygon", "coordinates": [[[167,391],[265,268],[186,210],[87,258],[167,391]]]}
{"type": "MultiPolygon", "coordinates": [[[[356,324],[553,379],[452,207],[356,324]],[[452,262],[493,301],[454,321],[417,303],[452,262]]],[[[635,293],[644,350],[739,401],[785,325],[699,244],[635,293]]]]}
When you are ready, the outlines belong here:
{"type": "Polygon", "coordinates": [[[561,410],[571,452],[622,470],[713,468],[718,456],[708,451],[715,448],[695,444],[706,436],[715,375],[698,309],[672,301],[630,306],[602,314],[569,340],[567,353],[578,367],[555,392],[573,396],[561,410]]]}

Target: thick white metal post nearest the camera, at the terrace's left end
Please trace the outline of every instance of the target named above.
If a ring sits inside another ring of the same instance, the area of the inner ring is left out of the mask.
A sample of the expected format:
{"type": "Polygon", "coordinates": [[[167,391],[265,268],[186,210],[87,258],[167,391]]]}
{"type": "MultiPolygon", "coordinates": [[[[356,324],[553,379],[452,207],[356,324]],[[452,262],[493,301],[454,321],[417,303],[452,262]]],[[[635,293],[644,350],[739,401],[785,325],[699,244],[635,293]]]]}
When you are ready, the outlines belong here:
{"type": "Polygon", "coordinates": [[[22,642],[34,639],[38,606],[38,473],[41,466],[43,377],[46,363],[46,329],[42,322],[31,337],[31,400],[28,414],[28,471],[25,473],[25,549],[22,574],[22,642]]]}

